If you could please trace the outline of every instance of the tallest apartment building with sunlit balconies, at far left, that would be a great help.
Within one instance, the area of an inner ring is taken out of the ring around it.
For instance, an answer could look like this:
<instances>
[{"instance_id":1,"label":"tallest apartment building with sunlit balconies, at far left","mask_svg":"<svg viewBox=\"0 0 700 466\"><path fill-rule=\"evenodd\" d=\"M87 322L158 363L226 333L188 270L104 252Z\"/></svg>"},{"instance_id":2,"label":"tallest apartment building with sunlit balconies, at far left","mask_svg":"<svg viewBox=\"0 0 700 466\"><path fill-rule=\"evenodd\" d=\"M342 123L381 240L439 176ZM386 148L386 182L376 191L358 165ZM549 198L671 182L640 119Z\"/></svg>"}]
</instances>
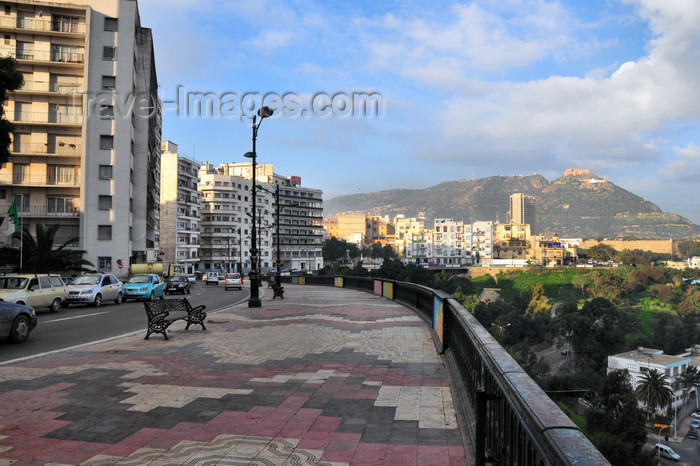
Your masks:
<instances>
[{"instance_id":1,"label":"tallest apartment building with sunlit balconies, at far left","mask_svg":"<svg viewBox=\"0 0 700 466\"><path fill-rule=\"evenodd\" d=\"M56 241L78 238L101 271L155 259L162 107L137 2L2 1L0 32L25 81L5 107L0 210L16 202L32 232L59 225Z\"/></svg>"}]
</instances>

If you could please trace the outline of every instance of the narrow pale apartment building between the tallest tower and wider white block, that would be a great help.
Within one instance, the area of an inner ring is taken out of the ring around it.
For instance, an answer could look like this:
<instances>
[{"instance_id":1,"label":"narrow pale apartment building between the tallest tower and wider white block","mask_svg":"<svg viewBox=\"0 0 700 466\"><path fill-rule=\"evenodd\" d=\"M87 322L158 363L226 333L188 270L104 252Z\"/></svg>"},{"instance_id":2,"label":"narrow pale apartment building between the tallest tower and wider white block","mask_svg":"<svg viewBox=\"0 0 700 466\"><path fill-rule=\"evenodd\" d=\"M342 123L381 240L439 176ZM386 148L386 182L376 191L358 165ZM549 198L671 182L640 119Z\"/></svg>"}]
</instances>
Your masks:
<instances>
[{"instance_id":1,"label":"narrow pale apartment building between the tallest tower and wider white block","mask_svg":"<svg viewBox=\"0 0 700 466\"><path fill-rule=\"evenodd\" d=\"M160 259L199 270L199 163L161 145Z\"/></svg>"}]
</instances>

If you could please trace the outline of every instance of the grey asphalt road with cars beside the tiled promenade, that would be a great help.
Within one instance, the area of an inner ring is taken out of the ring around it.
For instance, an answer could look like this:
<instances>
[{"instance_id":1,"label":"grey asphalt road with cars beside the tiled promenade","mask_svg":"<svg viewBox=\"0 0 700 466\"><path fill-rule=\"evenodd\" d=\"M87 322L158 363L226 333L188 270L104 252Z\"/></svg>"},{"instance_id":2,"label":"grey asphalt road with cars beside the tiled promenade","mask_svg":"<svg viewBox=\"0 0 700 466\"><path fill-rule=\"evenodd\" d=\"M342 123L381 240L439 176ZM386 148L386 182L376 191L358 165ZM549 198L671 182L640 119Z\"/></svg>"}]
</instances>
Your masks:
<instances>
[{"instance_id":1,"label":"grey asphalt road with cars beside the tiled promenade","mask_svg":"<svg viewBox=\"0 0 700 466\"><path fill-rule=\"evenodd\" d=\"M206 286L198 281L189 295L190 302L207 306L207 314L246 299L248 284L241 291L226 291L222 284ZM180 298L166 295L166 299ZM100 307L71 306L52 313L37 309L38 324L24 343L0 339L0 364L69 347L89 344L132 332L146 335L147 319L142 302L106 302Z\"/></svg>"}]
</instances>

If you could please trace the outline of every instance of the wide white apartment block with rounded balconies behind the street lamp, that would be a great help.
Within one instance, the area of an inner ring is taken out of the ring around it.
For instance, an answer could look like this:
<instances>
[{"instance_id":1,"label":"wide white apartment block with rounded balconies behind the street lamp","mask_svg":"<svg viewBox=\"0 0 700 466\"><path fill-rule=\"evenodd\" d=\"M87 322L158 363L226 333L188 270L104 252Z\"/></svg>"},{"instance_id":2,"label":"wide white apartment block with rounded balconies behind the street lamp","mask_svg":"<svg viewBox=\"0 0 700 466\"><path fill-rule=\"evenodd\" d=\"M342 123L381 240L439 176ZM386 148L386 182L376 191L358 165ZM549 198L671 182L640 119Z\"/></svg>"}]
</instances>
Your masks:
<instances>
[{"instance_id":1,"label":"wide white apartment block with rounded balconies behind the street lamp","mask_svg":"<svg viewBox=\"0 0 700 466\"><path fill-rule=\"evenodd\" d=\"M272 164L256 167L256 221L260 267L271 273L277 261L277 190L279 252L282 268L323 268L323 192L301 186L298 176L274 173ZM202 194L201 269L250 271L252 229L250 163L205 163L199 171ZM238 264L238 265L236 265Z\"/></svg>"}]
</instances>

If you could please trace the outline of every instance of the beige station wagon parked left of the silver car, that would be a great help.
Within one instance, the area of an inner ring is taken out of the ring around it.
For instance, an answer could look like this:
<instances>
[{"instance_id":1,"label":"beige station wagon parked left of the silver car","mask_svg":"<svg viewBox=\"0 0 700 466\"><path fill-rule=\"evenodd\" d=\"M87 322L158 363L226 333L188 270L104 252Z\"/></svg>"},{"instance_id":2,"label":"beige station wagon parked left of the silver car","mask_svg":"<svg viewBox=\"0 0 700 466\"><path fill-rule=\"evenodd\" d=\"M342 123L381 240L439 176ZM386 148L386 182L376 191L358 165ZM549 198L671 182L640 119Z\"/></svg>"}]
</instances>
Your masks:
<instances>
[{"instance_id":1,"label":"beige station wagon parked left of the silver car","mask_svg":"<svg viewBox=\"0 0 700 466\"><path fill-rule=\"evenodd\" d=\"M34 309L48 307L58 312L68 296L60 275L10 274L0 277L0 301L25 304Z\"/></svg>"}]
</instances>

